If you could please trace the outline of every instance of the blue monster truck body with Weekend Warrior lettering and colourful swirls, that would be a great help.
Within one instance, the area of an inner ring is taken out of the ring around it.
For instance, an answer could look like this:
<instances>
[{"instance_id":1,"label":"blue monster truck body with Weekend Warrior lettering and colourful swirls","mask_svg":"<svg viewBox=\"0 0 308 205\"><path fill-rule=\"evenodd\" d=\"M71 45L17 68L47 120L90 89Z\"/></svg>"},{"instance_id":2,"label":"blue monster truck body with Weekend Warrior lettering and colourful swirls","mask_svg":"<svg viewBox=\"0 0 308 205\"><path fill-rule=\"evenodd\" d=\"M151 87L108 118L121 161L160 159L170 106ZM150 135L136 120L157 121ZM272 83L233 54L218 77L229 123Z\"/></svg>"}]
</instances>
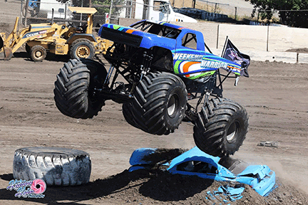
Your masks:
<instances>
[{"instance_id":1,"label":"blue monster truck body with Weekend Warrior lettering and colourful swirls","mask_svg":"<svg viewBox=\"0 0 308 205\"><path fill-rule=\"evenodd\" d=\"M176 32L171 32L170 34L163 36L159 35L159 33L150 33L134 28L140 23L152 23L154 26L160 25L164 28L174 28ZM136 43L133 46L145 49L160 47L169 50L173 56L173 73L184 78L189 78L192 80L204 78L206 76L213 75L219 68L231 71L235 75L240 75L241 65L205 51L205 41L200 31L184 28L172 23L155 23L152 21L143 20L134 23L130 27L106 23L101 26L98 32L98 35L102 38L106 38L106 30L104 30L104 28L123 32L125 33L126 38L138 36L140 43ZM185 39L185 36L188 35L192 36L193 40L195 40L193 45L194 48L183 45L183 39ZM109 38L109 40L115 42L121 41L121 39L115 38Z\"/></svg>"}]
</instances>

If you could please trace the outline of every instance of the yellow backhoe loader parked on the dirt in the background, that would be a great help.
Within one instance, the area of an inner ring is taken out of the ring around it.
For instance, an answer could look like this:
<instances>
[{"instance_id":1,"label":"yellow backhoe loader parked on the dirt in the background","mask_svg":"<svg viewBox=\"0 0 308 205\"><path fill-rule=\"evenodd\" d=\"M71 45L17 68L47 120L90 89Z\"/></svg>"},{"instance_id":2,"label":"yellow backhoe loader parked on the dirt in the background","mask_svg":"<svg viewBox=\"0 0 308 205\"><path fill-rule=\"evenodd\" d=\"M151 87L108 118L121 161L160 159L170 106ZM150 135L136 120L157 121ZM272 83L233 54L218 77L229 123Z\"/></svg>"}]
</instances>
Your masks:
<instances>
[{"instance_id":1,"label":"yellow backhoe loader parked on the dirt in the background","mask_svg":"<svg viewBox=\"0 0 308 205\"><path fill-rule=\"evenodd\" d=\"M111 41L95 37L92 33L95 8L68 7L73 14L88 14L88 20L81 26L73 23L58 25L53 23L30 24L17 31L19 17L16 17L13 31L6 38L0 33L0 59L9 60L26 43L26 51L33 61L43 61L47 52L57 55L69 54L71 58L93 58L111 46ZM72 20L73 21L73 20Z\"/></svg>"}]
</instances>

